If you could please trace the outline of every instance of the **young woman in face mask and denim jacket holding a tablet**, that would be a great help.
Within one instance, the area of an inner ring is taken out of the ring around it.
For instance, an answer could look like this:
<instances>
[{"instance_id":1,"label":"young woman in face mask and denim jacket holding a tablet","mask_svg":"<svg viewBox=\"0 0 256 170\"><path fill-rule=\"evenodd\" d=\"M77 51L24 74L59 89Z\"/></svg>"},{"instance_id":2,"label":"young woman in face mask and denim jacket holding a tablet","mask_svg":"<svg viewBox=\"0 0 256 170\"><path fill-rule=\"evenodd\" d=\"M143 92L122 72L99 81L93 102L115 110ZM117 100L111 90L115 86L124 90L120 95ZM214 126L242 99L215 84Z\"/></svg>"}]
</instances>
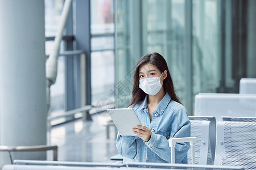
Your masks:
<instances>
[{"instance_id":1,"label":"young woman in face mask and denim jacket holding a tablet","mask_svg":"<svg viewBox=\"0 0 256 170\"><path fill-rule=\"evenodd\" d=\"M119 154L133 162L171 163L168 139L190 137L190 121L160 54L139 59L129 108L134 109L143 126L133 129L135 136L117 135ZM176 144L175 163L187 163L188 144Z\"/></svg>"}]
</instances>

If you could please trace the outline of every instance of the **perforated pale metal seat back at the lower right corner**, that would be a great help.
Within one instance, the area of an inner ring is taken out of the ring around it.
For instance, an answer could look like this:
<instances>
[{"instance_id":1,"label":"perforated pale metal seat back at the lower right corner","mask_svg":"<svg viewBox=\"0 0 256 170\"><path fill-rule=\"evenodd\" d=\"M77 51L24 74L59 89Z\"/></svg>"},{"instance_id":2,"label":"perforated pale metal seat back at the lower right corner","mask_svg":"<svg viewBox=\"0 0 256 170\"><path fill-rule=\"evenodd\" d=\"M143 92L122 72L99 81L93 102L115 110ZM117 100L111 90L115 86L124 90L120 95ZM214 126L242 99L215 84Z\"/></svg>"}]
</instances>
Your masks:
<instances>
[{"instance_id":1,"label":"perforated pale metal seat back at the lower right corner","mask_svg":"<svg viewBox=\"0 0 256 170\"><path fill-rule=\"evenodd\" d=\"M251 121L253 119L254 121ZM256 169L255 118L236 118L232 121L217 122L214 165Z\"/></svg>"}]
</instances>

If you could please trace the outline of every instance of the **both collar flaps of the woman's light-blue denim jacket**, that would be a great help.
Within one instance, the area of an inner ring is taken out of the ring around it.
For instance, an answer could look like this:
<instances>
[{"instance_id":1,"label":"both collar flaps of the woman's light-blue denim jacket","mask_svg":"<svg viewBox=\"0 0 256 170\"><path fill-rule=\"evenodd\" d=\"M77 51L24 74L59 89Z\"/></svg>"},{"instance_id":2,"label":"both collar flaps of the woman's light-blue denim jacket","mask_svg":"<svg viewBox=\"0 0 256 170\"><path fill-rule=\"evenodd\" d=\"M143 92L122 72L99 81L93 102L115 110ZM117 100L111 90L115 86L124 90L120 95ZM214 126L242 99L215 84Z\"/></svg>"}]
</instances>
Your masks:
<instances>
[{"instance_id":1,"label":"both collar flaps of the woman's light-blue denim jacket","mask_svg":"<svg viewBox=\"0 0 256 170\"><path fill-rule=\"evenodd\" d=\"M138 111L141 111L141 109L147 109L147 97L148 95L146 95ZM159 114L163 114L164 110L166 109L170 101L171 101L171 96L166 92L166 95L164 95L163 99L157 105L157 107L155 108L155 111L158 112Z\"/></svg>"}]
</instances>

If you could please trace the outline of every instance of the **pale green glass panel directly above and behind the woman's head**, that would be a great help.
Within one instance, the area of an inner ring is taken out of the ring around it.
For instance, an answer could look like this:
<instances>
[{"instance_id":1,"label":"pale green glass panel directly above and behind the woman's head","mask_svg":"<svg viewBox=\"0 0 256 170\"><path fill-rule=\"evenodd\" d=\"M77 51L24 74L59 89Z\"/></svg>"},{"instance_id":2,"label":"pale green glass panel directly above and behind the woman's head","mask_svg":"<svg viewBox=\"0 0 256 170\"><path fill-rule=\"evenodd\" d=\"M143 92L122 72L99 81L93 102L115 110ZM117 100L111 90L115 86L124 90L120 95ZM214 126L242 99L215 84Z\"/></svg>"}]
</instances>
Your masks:
<instances>
[{"instance_id":1,"label":"pale green glass panel directly above and behind the woman's head","mask_svg":"<svg viewBox=\"0 0 256 170\"><path fill-rule=\"evenodd\" d=\"M166 59L176 92L186 107L185 1L147 1L146 14L147 44L144 48Z\"/></svg>"}]
</instances>

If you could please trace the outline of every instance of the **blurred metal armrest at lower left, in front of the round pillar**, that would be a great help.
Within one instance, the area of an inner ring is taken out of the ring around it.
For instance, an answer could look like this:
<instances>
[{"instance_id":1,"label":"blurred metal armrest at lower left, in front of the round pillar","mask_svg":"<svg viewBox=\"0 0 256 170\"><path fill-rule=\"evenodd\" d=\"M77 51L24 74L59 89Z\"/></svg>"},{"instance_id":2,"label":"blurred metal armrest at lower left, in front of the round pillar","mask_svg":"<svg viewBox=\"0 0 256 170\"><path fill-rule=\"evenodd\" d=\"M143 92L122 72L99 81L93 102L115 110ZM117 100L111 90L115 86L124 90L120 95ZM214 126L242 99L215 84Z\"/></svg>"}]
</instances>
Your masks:
<instances>
[{"instance_id":1,"label":"blurred metal armrest at lower left, in front of the round pillar","mask_svg":"<svg viewBox=\"0 0 256 170\"><path fill-rule=\"evenodd\" d=\"M0 151L8 151L11 164L13 164L13 158L11 157L11 152L26 152L26 151L47 151L53 150L53 160L57 160L57 151L58 147L54 146L47 146L47 145L38 145L38 146L1 146Z\"/></svg>"}]
</instances>

